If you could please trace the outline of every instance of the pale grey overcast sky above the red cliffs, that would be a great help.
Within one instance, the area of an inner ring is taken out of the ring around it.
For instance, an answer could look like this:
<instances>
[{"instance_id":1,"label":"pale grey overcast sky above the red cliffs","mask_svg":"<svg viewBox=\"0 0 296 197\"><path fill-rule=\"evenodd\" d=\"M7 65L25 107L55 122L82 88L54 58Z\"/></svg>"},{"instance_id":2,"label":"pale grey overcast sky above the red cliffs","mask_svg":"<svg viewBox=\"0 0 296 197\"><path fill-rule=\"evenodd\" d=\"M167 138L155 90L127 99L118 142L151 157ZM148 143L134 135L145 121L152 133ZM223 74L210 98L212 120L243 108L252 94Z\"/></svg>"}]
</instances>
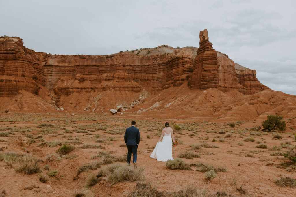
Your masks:
<instances>
[{"instance_id":1,"label":"pale grey overcast sky above the red cliffs","mask_svg":"<svg viewBox=\"0 0 296 197\"><path fill-rule=\"evenodd\" d=\"M216 51L256 69L259 81L296 95L296 1L0 0L0 35L38 52L107 55L199 47L207 29Z\"/></svg>"}]
</instances>

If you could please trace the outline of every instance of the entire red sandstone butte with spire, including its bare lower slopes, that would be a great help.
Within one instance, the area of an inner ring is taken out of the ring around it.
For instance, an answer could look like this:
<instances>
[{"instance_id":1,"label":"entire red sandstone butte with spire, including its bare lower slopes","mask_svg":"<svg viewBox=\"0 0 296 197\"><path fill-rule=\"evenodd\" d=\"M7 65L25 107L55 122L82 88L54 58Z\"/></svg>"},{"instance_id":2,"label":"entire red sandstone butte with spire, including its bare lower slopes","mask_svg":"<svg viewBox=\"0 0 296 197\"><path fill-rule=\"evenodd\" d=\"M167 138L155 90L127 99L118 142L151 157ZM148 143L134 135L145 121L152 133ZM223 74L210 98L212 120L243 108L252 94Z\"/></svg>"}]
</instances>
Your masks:
<instances>
[{"instance_id":1,"label":"entire red sandstone butte with spire, including its bare lower slopes","mask_svg":"<svg viewBox=\"0 0 296 197\"><path fill-rule=\"evenodd\" d=\"M256 71L200 47L126 51L105 56L52 55L0 37L1 109L24 112L167 113L174 117L250 120L295 117L296 97L261 84ZM155 112L158 111L158 112Z\"/></svg>"}]
</instances>

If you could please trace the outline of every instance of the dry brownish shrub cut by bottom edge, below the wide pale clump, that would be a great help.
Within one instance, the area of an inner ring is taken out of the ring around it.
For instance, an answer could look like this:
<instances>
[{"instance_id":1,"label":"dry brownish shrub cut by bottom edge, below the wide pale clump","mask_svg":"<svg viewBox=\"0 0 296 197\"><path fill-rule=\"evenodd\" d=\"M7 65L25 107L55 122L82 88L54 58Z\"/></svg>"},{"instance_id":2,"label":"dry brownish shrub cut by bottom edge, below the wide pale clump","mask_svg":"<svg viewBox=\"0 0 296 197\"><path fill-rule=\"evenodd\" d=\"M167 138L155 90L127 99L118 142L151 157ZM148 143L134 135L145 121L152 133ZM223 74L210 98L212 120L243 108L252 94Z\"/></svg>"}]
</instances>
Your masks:
<instances>
[{"instance_id":1,"label":"dry brownish shrub cut by bottom edge, below the wide pale clump","mask_svg":"<svg viewBox=\"0 0 296 197\"><path fill-rule=\"evenodd\" d=\"M160 196L157 195L157 188L152 185L151 182L146 180L137 181L137 185L135 186L135 191L128 194L128 197L155 197Z\"/></svg>"}]
</instances>

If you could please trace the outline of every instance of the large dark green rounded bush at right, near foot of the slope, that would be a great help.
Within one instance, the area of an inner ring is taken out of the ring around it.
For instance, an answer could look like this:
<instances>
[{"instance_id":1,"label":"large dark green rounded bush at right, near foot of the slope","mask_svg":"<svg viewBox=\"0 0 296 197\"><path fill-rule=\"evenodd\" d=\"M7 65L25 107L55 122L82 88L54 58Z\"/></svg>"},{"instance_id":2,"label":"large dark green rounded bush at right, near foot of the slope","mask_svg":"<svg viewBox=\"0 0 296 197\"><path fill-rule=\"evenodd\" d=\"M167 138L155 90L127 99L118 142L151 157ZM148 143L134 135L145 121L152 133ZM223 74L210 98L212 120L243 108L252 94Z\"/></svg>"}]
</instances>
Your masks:
<instances>
[{"instance_id":1,"label":"large dark green rounded bush at right, near foot of the slope","mask_svg":"<svg viewBox=\"0 0 296 197\"><path fill-rule=\"evenodd\" d=\"M263 121L261 124L263 126L263 131L272 131L272 130L279 130L285 131L286 130L286 122L282 121L284 117L280 115L268 115L267 120Z\"/></svg>"}]
</instances>

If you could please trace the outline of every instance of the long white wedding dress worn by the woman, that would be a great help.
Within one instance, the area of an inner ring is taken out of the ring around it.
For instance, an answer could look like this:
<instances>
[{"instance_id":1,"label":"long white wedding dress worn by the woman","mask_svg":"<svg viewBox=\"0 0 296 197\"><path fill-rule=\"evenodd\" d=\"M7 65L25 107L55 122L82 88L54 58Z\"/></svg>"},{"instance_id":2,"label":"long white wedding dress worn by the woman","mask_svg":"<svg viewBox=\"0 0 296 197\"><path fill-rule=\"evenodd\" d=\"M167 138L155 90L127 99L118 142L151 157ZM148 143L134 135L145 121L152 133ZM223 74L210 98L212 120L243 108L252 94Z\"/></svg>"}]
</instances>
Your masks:
<instances>
[{"instance_id":1,"label":"long white wedding dress worn by the woman","mask_svg":"<svg viewBox=\"0 0 296 197\"><path fill-rule=\"evenodd\" d=\"M157 161L166 162L168 159L174 159L172 156L172 137L165 133L163 135L163 141L157 142L155 149L150 155L151 158L157 159Z\"/></svg>"}]
</instances>

